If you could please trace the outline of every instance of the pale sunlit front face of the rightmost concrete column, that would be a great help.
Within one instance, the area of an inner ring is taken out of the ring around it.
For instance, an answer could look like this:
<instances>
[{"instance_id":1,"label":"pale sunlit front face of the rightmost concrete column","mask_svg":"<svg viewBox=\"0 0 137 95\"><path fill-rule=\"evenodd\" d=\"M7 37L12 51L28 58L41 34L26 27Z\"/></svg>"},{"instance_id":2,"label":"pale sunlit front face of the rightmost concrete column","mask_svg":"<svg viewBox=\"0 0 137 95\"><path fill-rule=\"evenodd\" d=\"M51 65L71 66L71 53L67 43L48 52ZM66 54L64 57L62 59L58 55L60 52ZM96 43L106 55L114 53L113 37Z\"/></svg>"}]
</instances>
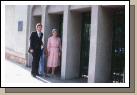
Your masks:
<instances>
[{"instance_id":1,"label":"pale sunlit front face of the rightmost concrete column","mask_svg":"<svg viewBox=\"0 0 137 95\"><path fill-rule=\"evenodd\" d=\"M95 82L95 64L96 64L97 30L98 30L97 25L98 25L98 6L92 6L88 82Z\"/></svg>"}]
</instances>

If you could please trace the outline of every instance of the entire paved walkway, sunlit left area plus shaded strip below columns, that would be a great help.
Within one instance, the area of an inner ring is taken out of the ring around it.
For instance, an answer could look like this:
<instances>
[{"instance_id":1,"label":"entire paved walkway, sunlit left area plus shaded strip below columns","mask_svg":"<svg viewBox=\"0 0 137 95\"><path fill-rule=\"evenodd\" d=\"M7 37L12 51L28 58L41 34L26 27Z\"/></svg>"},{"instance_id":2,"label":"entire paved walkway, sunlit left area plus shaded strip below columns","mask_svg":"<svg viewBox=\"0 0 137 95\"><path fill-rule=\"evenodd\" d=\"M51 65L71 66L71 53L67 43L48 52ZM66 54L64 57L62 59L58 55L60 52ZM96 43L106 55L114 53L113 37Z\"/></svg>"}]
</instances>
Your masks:
<instances>
[{"instance_id":1,"label":"entire paved walkway, sunlit left area plus shaded strip below columns","mask_svg":"<svg viewBox=\"0 0 137 95\"><path fill-rule=\"evenodd\" d=\"M23 64L6 60L6 83L86 83L85 79L62 80L59 75L56 77L31 76L30 68Z\"/></svg>"}]
</instances>

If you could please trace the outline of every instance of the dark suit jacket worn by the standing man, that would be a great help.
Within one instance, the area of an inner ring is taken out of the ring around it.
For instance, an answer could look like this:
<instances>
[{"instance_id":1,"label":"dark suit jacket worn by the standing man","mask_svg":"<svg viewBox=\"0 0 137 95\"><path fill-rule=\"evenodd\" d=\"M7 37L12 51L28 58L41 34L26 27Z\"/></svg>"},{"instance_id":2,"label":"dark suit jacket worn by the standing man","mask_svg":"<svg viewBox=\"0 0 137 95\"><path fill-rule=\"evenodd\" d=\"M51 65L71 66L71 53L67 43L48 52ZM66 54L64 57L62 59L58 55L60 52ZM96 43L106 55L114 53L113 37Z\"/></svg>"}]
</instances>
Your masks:
<instances>
[{"instance_id":1,"label":"dark suit jacket worn by the standing man","mask_svg":"<svg viewBox=\"0 0 137 95\"><path fill-rule=\"evenodd\" d=\"M41 33L41 36L38 37L37 32L32 32L30 36L30 48L35 50L40 50L42 43L42 37L43 33Z\"/></svg>"}]
</instances>

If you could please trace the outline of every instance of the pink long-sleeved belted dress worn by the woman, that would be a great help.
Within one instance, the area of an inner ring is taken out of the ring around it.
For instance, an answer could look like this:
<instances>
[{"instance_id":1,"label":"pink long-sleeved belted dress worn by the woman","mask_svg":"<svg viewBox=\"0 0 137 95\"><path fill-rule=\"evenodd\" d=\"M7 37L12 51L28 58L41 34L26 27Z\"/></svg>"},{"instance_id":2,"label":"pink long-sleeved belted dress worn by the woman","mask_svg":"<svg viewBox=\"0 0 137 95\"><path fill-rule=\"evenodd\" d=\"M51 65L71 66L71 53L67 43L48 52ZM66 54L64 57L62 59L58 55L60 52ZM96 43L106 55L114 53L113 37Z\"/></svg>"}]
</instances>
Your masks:
<instances>
[{"instance_id":1,"label":"pink long-sleeved belted dress worn by the woman","mask_svg":"<svg viewBox=\"0 0 137 95\"><path fill-rule=\"evenodd\" d=\"M47 67L57 67L59 66L60 56L59 53L61 51L61 40L59 37L50 37L48 38L47 43L48 50L48 61Z\"/></svg>"}]
</instances>

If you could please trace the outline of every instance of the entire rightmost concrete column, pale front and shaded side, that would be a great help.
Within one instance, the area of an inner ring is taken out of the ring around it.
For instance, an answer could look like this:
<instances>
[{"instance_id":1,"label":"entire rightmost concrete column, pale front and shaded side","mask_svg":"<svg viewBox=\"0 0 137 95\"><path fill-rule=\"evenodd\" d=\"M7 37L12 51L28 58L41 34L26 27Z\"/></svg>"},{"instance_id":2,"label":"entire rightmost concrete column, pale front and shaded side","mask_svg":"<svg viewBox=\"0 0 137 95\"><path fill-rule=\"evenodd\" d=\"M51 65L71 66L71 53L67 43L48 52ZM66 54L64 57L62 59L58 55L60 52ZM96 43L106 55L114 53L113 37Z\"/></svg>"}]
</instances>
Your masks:
<instances>
[{"instance_id":1,"label":"entire rightmost concrete column, pale front and shaded side","mask_svg":"<svg viewBox=\"0 0 137 95\"><path fill-rule=\"evenodd\" d=\"M109 82L111 52L111 16L104 8L92 6L88 82Z\"/></svg>"}]
</instances>

